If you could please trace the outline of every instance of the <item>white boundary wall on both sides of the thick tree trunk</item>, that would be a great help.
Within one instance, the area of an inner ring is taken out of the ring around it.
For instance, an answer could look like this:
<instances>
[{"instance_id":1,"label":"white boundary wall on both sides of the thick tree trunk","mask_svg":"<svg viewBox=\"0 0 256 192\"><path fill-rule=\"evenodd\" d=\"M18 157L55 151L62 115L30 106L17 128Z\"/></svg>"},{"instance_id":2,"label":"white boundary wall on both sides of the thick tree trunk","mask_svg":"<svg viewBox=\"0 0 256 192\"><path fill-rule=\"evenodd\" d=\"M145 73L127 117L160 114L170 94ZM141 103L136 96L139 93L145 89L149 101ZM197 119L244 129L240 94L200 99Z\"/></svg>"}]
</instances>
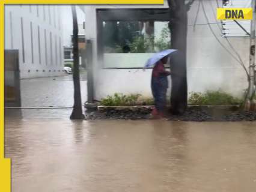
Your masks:
<instances>
[{"instance_id":1,"label":"white boundary wall on both sides of the thick tree trunk","mask_svg":"<svg viewBox=\"0 0 256 192\"><path fill-rule=\"evenodd\" d=\"M189 92L222 89L235 96L240 96L247 86L245 71L220 46L209 26L205 25L207 21L204 18L202 9L200 9L197 20L197 24L200 25L195 26L194 30L192 24L194 24L197 7L198 1L195 1L188 14L187 81ZM216 1L204 1L204 7L206 8L209 22L216 23L217 21L213 14L213 11L216 10ZM115 92L124 94L141 93L146 97L151 97L151 69L144 71L142 69L102 68L103 63L97 58L96 8L96 6L85 6L84 9L86 18L90 18L90 22L86 22L85 33L87 34L87 39L93 41L94 95L96 95L96 99L100 100L100 98L108 94L112 95ZM219 40L224 43L225 47L228 47L227 41L221 37L221 29L219 29L218 25L213 24L211 26ZM221 25L219 26L221 27ZM243 37L228 38L228 40L240 53L243 62L247 66L249 62L249 39ZM233 51L231 50L231 52Z\"/></svg>"}]
</instances>

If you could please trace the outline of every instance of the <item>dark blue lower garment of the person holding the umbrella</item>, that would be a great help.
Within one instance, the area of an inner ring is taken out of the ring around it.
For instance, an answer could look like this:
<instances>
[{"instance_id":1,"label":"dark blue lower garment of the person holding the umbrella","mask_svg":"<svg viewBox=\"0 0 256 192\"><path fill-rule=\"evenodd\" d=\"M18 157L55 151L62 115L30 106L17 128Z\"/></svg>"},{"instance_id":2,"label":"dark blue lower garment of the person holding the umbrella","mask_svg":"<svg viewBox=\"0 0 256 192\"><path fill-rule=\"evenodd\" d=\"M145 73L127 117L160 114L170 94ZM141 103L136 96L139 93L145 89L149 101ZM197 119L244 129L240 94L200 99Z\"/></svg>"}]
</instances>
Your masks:
<instances>
[{"instance_id":1,"label":"dark blue lower garment of the person holding the umbrella","mask_svg":"<svg viewBox=\"0 0 256 192\"><path fill-rule=\"evenodd\" d=\"M154 97L154 104L159 112L163 112L166 106L166 92L168 79L166 76L152 77L151 90Z\"/></svg>"}]
</instances>

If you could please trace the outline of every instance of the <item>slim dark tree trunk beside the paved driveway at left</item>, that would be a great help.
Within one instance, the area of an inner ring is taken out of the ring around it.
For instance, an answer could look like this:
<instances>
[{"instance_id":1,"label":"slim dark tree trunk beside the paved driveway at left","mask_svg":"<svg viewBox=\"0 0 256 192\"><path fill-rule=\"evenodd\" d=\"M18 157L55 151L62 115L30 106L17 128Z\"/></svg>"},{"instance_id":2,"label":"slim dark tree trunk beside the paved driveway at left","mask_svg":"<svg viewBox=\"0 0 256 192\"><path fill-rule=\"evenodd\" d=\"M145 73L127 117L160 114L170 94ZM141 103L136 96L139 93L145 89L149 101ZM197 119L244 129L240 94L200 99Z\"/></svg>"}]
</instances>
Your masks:
<instances>
[{"instance_id":1,"label":"slim dark tree trunk beside the paved driveway at left","mask_svg":"<svg viewBox=\"0 0 256 192\"><path fill-rule=\"evenodd\" d=\"M74 106L70 119L84 119L82 113L81 87L79 76L79 51L78 51L78 20L76 18L76 5L72 5L73 17L73 82Z\"/></svg>"}]
</instances>

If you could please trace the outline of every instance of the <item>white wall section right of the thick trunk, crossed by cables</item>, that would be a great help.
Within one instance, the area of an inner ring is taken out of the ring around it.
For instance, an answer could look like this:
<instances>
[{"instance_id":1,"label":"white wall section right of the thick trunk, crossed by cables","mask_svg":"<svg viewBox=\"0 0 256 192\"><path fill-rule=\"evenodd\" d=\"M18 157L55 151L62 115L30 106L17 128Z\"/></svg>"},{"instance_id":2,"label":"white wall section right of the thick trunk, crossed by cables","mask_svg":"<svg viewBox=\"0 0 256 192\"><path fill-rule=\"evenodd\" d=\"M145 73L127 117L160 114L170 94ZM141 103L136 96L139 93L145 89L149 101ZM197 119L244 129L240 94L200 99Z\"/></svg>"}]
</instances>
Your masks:
<instances>
[{"instance_id":1,"label":"white wall section right of the thick trunk, crossed by cables","mask_svg":"<svg viewBox=\"0 0 256 192\"><path fill-rule=\"evenodd\" d=\"M198 1L195 1L189 11L188 34L187 34L187 79L189 92L218 90L229 92L235 96L242 95L247 88L245 71L240 64L229 55L229 53L218 43L213 36L204 17L202 8L200 9L197 26L194 24L197 13ZM210 23L218 23L215 18L216 1L204 1L204 8ZM244 37L222 38L221 24L212 24L212 29L218 36L219 41L236 55L229 46L228 41L240 54L246 67L249 64L249 39Z\"/></svg>"}]
</instances>

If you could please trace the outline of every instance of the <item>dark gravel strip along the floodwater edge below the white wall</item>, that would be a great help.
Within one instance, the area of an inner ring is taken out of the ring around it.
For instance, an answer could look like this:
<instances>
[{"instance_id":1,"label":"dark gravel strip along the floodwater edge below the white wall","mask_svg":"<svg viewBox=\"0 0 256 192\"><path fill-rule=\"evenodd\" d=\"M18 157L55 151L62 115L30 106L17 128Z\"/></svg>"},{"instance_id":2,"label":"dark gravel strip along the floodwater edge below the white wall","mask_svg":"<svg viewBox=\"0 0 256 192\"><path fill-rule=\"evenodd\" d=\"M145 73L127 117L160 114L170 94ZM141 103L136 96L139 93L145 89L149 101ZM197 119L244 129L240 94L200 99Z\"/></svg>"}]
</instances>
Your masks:
<instances>
[{"instance_id":1,"label":"dark gravel strip along the floodwater edge below the white wall","mask_svg":"<svg viewBox=\"0 0 256 192\"><path fill-rule=\"evenodd\" d=\"M106 109L87 111L86 119L150 119L151 109ZM246 112L237 107L188 107L183 115L166 113L170 121L256 121L256 112Z\"/></svg>"}]
</instances>

